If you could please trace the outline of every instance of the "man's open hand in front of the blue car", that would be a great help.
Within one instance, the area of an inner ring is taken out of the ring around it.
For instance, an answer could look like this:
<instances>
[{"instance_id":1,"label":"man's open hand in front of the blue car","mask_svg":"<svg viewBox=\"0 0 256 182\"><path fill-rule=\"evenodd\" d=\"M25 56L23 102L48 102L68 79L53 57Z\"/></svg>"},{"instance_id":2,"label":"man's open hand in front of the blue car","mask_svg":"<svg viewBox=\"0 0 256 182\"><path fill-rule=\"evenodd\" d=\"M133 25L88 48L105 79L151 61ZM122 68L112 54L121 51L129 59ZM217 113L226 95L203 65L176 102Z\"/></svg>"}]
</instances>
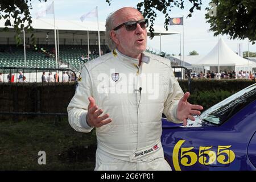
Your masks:
<instances>
[{"instance_id":1,"label":"man's open hand in front of the blue car","mask_svg":"<svg viewBox=\"0 0 256 182\"><path fill-rule=\"evenodd\" d=\"M190 96L189 92L186 92L183 98L180 99L179 104L177 105L177 118L180 121L183 121L183 125L187 125L187 119L191 119L195 121L195 118L192 114L199 115L201 112L199 110L203 110L203 106L200 105L192 105L188 102L188 97Z\"/></svg>"}]
</instances>

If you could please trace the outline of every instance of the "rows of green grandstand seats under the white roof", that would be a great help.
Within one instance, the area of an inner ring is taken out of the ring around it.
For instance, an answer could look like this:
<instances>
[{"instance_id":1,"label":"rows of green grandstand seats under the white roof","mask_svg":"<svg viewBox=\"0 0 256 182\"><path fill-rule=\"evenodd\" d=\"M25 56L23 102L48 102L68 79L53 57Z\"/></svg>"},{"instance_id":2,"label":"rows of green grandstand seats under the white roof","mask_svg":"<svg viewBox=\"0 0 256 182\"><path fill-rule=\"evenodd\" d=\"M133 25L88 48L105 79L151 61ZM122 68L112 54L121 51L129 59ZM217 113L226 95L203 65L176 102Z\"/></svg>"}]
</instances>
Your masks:
<instances>
[{"instance_id":1,"label":"rows of green grandstand seats under the white roof","mask_svg":"<svg viewBox=\"0 0 256 182\"><path fill-rule=\"evenodd\" d=\"M11 47L11 51L10 51ZM40 51L40 48L51 50L55 45L39 45L38 51L34 51L33 48L26 48L26 65L24 63L24 48L22 45L1 45L0 46L0 67L28 67L28 68L56 68L55 57L47 57L45 53ZM72 64L73 67L79 69L80 65L84 62L80 60L80 57L84 55L87 57L88 47L73 46L73 45L60 45L60 62L65 64ZM96 50L98 52L97 45L90 45L90 52ZM101 46L104 53L108 52L107 46ZM95 59L96 55L90 54L90 59Z\"/></svg>"}]
</instances>

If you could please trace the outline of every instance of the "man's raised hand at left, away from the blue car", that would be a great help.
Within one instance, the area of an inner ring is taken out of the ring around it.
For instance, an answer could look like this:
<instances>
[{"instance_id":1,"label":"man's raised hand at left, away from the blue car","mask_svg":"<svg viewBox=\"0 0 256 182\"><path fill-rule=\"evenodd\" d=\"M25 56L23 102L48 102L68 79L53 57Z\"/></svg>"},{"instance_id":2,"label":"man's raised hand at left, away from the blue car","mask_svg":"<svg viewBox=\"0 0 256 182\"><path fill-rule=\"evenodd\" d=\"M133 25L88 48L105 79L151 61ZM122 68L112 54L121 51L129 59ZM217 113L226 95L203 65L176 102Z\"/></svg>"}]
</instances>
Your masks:
<instances>
[{"instance_id":1,"label":"man's raised hand at left, away from the blue car","mask_svg":"<svg viewBox=\"0 0 256 182\"><path fill-rule=\"evenodd\" d=\"M98 109L98 106L95 104L95 100L93 97L88 97L89 105L88 105L88 113L86 115L86 120L88 124L92 127L101 127L102 125L106 125L112 122L112 119L109 118L109 114L105 114L100 117L103 113L102 109Z\"/></svg>"}]
</instances>

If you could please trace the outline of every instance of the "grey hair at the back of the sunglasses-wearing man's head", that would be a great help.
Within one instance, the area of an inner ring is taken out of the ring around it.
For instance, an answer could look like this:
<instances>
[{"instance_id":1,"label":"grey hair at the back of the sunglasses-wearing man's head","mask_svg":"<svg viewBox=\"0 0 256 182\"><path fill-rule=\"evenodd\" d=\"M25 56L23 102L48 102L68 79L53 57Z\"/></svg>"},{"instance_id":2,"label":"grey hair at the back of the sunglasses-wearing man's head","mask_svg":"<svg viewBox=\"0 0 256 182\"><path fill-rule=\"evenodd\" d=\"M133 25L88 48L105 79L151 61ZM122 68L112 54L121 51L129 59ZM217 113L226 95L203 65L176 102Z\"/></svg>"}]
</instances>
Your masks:
<instances>
[{"instance_id":1,"label":"grey hair at the back of the sunglasses-wearing man's head","mask_svg":"<svg viewBox=\"0 0 256 182\"><path fill-rule=\"evenodd\" d=\"M111 51L113 51L115 48L117 48L113 39L110 36L110 31L112 31L113 28L114 28L114 15L115 15L114 13L110 13L108 15L108 17L106 18L106 24L105 24L105 27L106 27L106 43L108 44L109 49Z\"/></svg>"}]
</instances>

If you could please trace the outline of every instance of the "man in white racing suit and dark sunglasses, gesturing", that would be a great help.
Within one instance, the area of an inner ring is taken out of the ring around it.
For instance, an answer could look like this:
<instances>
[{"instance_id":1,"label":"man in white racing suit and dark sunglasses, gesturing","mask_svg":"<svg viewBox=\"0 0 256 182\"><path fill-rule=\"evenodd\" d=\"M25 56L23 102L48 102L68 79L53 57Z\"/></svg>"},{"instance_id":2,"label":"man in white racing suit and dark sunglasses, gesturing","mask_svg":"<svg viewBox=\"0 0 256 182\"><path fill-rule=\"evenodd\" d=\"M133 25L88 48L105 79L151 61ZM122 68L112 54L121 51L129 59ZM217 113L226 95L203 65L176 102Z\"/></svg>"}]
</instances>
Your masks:
<instances>
[{"instance_id":1,"label":"man in white racing suit and dark sunglasses, gesturing","mask_svg":"<svg viewBox=\"0 0 256 182\"><path fill-rule=\"evenodd\" d=\"M84 64L68 105L73 129L88 133L96 127L96 170L171 170L160 142L162 113L187 125L203 109L187 102L170 60L144 52L146 26L131 7L108 16L112 52Z\"/></svg>"}]
</instances>

